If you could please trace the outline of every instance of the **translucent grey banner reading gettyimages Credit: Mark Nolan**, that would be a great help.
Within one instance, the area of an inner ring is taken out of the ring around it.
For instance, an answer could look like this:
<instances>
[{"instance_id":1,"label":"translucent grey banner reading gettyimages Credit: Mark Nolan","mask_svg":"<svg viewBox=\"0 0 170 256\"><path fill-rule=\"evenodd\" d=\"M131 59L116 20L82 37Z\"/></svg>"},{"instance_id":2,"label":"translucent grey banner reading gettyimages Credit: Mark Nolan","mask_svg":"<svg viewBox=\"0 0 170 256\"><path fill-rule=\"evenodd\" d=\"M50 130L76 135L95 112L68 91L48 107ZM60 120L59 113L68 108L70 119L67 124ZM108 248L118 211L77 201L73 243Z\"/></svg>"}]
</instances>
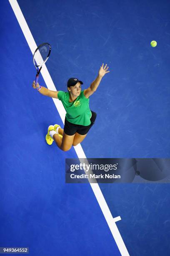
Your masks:
<instances>
[{"instance_id":1,"label":"translucent grey banner reading gettyimages Credit: Mark Nolan","mask_svg":"<svg viewBox=\"0 0 170 256\"><path fill-rule=\"evenodd\" d=\"M66 183L170 183L170 159L66 159Z\"/></svg>"}]
</instances>

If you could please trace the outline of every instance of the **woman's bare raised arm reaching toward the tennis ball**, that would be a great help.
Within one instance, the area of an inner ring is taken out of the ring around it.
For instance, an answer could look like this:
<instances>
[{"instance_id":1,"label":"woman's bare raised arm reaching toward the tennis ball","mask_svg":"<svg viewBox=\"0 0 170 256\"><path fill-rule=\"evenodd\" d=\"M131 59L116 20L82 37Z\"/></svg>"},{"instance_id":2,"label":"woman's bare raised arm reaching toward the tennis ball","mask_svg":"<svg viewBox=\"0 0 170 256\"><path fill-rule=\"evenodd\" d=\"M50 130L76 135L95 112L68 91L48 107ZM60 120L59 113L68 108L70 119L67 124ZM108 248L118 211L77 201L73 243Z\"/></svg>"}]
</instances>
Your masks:
<instances>
[{"instance_id":1,"label":"woman's bare raised arm reaching toward the tennis ball","mask_svg":"<svg viewBox=\"0 0 170 256\"><path fill-rule=\"evenodd\" d=\"M87 89L84 90L84 95L86 98L88 98L90 95L92 95L96 90L97 87L99 86L102 77L104 77L104 75L110 71L107 71L107 69L109 67L107 67L107 64L105 64L105 67L103 68L104 63L102 64L102 66L99 69L99 73L97 78L90 84L90 87L88 87Z\"/></svg>"}]
</instances>

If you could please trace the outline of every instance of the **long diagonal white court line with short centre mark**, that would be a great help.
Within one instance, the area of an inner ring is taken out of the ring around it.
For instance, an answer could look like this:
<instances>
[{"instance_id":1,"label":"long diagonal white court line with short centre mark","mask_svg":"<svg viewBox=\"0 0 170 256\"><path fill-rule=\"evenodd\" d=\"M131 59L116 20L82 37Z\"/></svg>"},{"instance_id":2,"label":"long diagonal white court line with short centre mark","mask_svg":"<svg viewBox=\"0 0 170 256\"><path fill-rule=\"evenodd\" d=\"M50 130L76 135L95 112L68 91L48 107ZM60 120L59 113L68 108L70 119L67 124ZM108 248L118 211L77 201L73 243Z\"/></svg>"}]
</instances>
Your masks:
<instances>
[{"instance_id":1,"label":"long diagonal white court line with short centre mark","mask_svg":"<svg viewBox=\"0 0 170 256\"><path fill-rule=\"evenodd\" d=\"M17 0L9 0L10 5L13 8L13 11L15 13L15 16L18 20L18 23L20 24L20 27L23 31L23 34L25 36L25 39L30 47L30 50L32 51L32 54L34 54L35 49L37 48L37 45L35 44L34 38L30 32L30 29L28 28L28 25L26 23L26 20L23 16L23 13L20 10L20 6L17 3ZM56 91L55 85L52 82L52 79L50 77L50 74L46 68L46 66L44 65L41 71L42 77L47 85L47 88L49 90L53 90ZM58 110L58 113L62 119L62 122L64 123L64 119L65 119L65 109L62 105L62 102L58 99L53 99L55 106ZM77 145L75 146L75 151L76 154L78 156L78 158L86 158L84 151L82 150L81 145ZM100 190L100 187L97 183L90 183L92 190L95 194L95 197L97 199L97 202L100 205L100 208L102 210L103 215L105 216L105 219L107 221L107 224L110 228L110 231L112 233L112 236L115 239L115 242L117 244L117 247L119 248L119 251L121 253L122 256L129 256L128 250L125 246L125 243L122 240L122 237L120 235L120 232L116 226L116 221L121 220L120 216L116 217L116 218L112 218L112 214L109 210L109 207L107 206L107 203L105 201L105 198L102 195L102 192Z\"/></svg>"}]
</instances>

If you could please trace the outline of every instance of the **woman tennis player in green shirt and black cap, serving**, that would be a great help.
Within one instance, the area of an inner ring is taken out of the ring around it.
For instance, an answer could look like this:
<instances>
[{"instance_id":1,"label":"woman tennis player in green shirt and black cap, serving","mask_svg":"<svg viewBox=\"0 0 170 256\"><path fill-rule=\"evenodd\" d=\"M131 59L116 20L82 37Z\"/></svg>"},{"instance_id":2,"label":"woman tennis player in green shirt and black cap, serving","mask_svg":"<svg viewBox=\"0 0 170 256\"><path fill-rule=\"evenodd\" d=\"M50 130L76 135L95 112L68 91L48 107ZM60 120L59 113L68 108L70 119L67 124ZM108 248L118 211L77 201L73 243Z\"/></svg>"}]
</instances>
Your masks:
<instances>
[{"instance_id":1,"label":"woman tennis player in green shirt and black cap, serving","mask_svg":"<svg viewBox=\"0 0 170 256\"><path fill-rule=\"evenodd\" d=\"M90 87L83 91L81 91L83 82L77 78L70 78L67 81L68 92L51 91L38 83L35 85L35 81L33 82L32 87L42 95L61 100L67 112L64 129L57 124L48 127L47 135L45 136L48 145L55 141L61 150L68 151L71 146L76 146L84 140L96 118L96 113L89 108L89 97L97 90L102 77L110 72L107 70L107 64L105 64L105 67L102 64L97 78Z\"/></svg>"}]
</instances>

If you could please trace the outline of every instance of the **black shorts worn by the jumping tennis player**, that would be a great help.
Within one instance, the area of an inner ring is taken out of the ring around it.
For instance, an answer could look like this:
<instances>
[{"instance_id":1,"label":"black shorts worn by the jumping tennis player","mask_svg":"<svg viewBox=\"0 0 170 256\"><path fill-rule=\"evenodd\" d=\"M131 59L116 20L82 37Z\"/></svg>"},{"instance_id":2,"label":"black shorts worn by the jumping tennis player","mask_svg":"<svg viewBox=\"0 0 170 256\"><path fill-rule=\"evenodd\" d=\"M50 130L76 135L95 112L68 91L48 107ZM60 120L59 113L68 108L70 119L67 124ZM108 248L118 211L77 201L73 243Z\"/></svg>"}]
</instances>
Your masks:
<instances>
[{"instance_id":1,"label":"black shorts worn by the jumping tennis player","mask_svg":"<svg viewBox=\"0 0 170 256\"><path fill-rule=\"evenodd\" d=\"M92 125L95 123L95 119L96 119L96 113L91 111L92 116L90 118L91 124L84 126L84 125L76 125L74 123L70 123L67 121L67 119L65 118L65 123L64 123L64 132L67 135L74 135L75 133L79 133L80 135L85 135L87 134L87 132L90 130L90 128L92 127Z\"/></svg>"}]
</instances>

